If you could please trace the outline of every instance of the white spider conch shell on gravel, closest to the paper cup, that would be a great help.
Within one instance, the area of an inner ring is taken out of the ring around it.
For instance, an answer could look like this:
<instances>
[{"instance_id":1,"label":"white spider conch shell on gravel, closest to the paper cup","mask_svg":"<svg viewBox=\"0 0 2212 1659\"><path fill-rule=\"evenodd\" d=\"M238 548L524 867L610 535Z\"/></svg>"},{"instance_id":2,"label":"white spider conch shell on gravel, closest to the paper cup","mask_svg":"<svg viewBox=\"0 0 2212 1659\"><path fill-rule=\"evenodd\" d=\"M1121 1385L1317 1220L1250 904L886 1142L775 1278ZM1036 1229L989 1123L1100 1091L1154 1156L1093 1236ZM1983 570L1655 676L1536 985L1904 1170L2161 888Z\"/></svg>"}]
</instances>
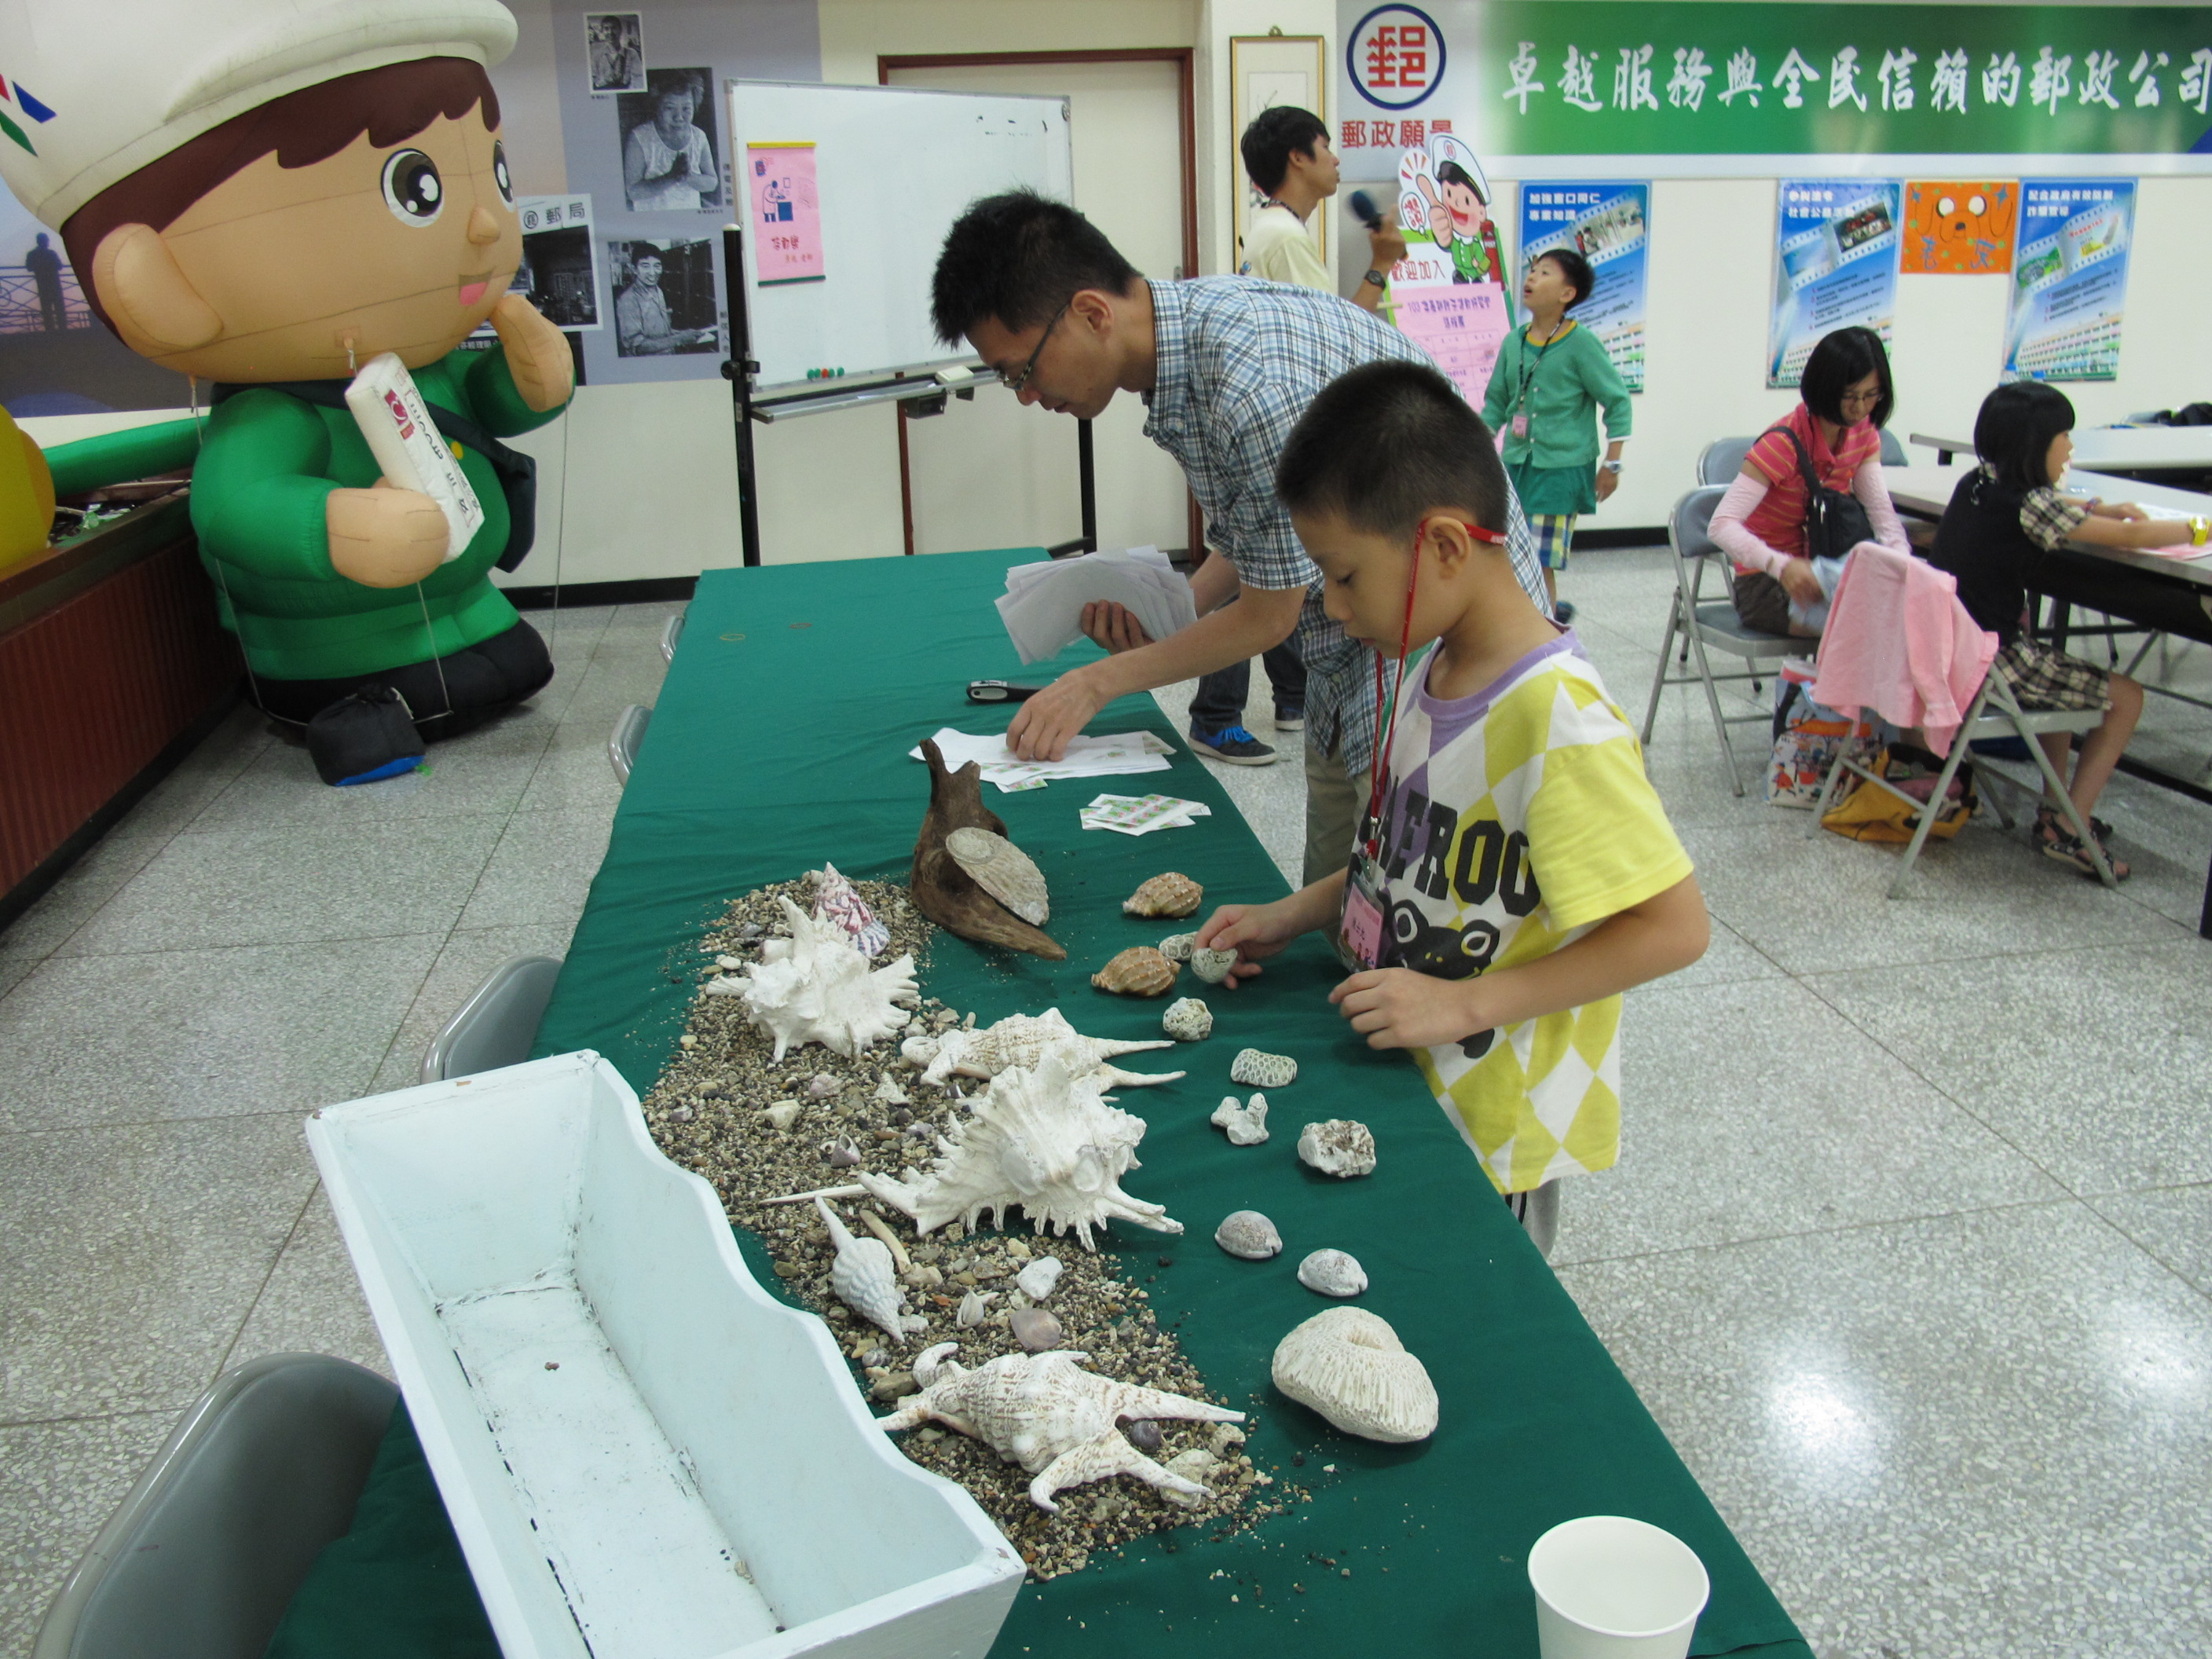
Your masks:
<instances>
[{"instance_id":1,"label":"white spider conch shell on gravel, closest to the paper cup","mask_svg":"<svg viewBox=\"0 0 2212 1659\"><path fill-rule=\"evenodd\" d=\"M891 1416L876 1418L876 1427L896 1433L936 1418L975 1436L1000 1458L1035 1475L1029 1500L1055 1515L1060 1506L1053 1493L1110 1475L1137 1475L1148 1486L1183 1498L1210 1495L1199 1482L1172 1475L1137 1451L1115 1427L1119 1418L1243 1422L1243 1411L1086 1371L1079 1360L1091 1356L1073 1349L1000 1354L967 1371L942 1358L947 1347L940 1343L922 1352L914 1363L914 1380L922 1391L902 1400Z\"/></svg>"}]
</instances>

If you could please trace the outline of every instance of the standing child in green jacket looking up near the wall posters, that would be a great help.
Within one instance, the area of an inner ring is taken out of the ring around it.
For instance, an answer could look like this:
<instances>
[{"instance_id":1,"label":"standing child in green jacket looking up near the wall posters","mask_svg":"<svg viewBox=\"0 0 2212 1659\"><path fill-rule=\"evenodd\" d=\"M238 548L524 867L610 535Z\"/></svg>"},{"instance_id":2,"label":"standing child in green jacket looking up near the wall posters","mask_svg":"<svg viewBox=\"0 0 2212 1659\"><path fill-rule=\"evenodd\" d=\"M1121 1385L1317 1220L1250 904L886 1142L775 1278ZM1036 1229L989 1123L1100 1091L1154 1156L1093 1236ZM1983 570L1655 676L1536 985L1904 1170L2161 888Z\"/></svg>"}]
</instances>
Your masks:
<instances>
[{"instance_id":1,"label":"standing child in green jacket looking up near the wall posters","mask_svg":"<svg viewBox=\"0 0 2212 1659\"><path fill-rule=\"evenodd\" d=\"M1506 476L1535 529L1544 588L1559 622L1559 571L1575 540L1575 518L1597 511L1621 482L1628 438L1628 387L1595 334L1568 321L1590 296L1590 261L1573 248L1551 248L1528 263L1522 305L1528 321L1506 334L1482 398L1482 420L1504 434ZM1597 462L1597 409L1606 409L1606 460Z\"/></svg>"}]
</instances>

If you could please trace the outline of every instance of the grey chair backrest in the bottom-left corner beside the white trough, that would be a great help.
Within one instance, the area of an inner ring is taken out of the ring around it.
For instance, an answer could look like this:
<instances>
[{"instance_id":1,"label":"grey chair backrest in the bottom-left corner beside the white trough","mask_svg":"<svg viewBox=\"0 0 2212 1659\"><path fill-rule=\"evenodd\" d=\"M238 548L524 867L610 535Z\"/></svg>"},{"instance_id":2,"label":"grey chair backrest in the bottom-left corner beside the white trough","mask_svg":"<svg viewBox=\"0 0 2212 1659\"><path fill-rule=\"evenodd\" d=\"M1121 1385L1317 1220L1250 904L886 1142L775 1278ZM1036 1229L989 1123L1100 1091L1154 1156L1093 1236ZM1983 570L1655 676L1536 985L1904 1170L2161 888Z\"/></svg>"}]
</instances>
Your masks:
<instances>
[{"instance_id":1,"label":"grey chair backrest in the bottom-left corner beside the white trough","mask_svg":"<svg viewBox=\"0 0 2212 1659\"><path fill-rule=\"evenodd\" d=\"M261 1659L354 1524L396 1400L323 1354L223 1371L100 1528L31 1659Z\"/></svg>"}]
</instances>

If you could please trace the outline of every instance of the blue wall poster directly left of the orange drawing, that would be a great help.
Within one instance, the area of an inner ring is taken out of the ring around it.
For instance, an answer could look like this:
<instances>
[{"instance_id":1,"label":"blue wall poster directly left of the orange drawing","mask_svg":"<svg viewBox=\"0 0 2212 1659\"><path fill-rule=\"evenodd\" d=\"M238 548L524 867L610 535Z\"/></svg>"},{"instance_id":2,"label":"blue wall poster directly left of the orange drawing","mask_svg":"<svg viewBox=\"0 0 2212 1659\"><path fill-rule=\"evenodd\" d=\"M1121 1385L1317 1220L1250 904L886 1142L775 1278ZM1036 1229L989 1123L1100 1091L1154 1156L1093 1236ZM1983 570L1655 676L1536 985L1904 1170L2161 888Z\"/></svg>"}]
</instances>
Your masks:
<instances>
[{"instance_id":1,"label":"blue wall poster directly left of the orange drawing","mask_svg":"<svg viewBox=\"0 0 2212 1659\"><path fill-rule=\"evenodd\" d=\"M1896 179L1781 179L1774 201L1774 316L1767 385L1794 387L1823 334L1898 314Z\"/></svg>"}]
</instances>

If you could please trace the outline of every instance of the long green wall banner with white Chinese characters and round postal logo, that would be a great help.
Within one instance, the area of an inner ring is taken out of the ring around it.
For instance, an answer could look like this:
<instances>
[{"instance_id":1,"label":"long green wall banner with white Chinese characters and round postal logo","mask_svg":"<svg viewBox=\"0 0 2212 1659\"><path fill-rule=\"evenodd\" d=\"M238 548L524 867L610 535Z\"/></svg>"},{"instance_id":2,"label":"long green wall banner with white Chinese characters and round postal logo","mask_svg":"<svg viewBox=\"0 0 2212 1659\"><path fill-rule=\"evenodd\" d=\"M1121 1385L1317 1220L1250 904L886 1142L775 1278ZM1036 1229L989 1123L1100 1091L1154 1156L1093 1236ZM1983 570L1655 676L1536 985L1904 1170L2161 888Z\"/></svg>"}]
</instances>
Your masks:
<instances>
[{"instance_id":1,"label":"long green wall banner with white Chinese characters and round postal logo","mask_svg":"<svg viewBox=\"0 0 2212 1659\"><path fill-rule=\"evenodd\" d=\"M1336 15L1352 184L1389 177L1438 119L1515 179L1615 170L1575 157L1635 177L1661 173L1637 157L1672 177L1880 177L1902 170L1891 155L2212 173L2208 7L1338 0Z\"/></svg>"}]
</instances>

